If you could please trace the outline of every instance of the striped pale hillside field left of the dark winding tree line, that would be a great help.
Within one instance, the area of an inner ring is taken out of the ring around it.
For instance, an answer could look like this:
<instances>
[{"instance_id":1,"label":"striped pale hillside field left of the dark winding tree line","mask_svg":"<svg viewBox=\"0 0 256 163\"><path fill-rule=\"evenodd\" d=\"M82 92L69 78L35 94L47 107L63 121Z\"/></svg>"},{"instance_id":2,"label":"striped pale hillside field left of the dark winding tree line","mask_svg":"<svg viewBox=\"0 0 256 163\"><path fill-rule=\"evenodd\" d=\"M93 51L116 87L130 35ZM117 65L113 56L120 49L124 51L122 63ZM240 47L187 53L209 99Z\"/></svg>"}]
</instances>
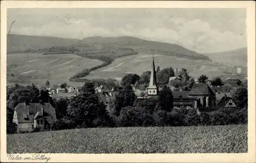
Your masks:
<instances>
[{"instance_id":1,"label":"striped pale hillside field left of the dark winding tree line","mask_svg":"<svg viewBox=\"0 0 256 163\"><path fill-rule=\"evenodd\" d=\"M7 55L7 83L35 83L44 86L46 80L52 85L68 83L69 78L84 68L92 68L103 62L82 58L73 54L41 55L19 53ZM12 76L12 74L14 76Z\"/></svg>"}]
</instances>

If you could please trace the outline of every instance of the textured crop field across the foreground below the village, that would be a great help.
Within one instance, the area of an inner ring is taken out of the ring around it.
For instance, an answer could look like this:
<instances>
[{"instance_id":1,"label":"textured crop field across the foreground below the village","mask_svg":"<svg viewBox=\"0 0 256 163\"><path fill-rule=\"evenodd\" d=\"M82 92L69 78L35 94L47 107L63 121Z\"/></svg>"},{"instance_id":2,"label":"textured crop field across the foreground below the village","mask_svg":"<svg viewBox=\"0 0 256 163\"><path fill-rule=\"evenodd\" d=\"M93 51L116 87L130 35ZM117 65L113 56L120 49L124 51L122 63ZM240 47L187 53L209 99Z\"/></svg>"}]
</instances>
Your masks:
<instances>
[{"instance_id":1,"label":"textured crop field across the foreground below the village","mask_svg":"<svg viewBox=\"0 0 256 163\"><path fill-rule=\"evenodd\" d=\"M7 153L246 153L247 125L87 128L7 135Z\"/></svg>"}]
</instances>

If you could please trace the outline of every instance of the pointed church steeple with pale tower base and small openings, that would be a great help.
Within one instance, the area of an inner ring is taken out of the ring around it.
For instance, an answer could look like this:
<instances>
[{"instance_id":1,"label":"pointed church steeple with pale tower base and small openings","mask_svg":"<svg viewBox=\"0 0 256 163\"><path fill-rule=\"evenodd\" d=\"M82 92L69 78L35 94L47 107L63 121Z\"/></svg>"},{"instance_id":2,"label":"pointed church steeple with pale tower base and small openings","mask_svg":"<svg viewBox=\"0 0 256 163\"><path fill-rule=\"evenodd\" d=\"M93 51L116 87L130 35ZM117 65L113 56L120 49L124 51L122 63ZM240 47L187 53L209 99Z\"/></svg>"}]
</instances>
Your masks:
<instances>
[{"instance_id":1,"label":"pointed church steeple with pale tower base and small openings","mask_svg":"<svg viewBox=\"0 0 256 163\"><path fill-rule=\"evenodd\" d=\"M154 57L153 57L152 71L151 71L151 77L150 77L150 85L147 88L147 94L158 95L157 75L156 75Z\"/></svg>"}]
</instances>

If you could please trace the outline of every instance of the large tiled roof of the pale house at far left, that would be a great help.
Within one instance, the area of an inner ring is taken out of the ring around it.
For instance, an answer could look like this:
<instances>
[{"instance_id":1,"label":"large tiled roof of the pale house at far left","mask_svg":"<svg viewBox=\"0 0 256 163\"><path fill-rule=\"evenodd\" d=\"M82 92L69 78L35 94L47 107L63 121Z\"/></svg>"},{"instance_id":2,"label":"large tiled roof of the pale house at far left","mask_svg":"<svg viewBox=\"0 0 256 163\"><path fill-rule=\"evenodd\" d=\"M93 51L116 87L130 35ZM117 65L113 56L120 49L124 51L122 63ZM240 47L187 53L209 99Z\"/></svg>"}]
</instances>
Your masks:
<instances>
[{"instance_id":1,"label":"large tiled roof of the pale house at far left","mask_svg":"<svg viewBox=\"0 0 256 163\"><path fill-rule=\"evenodd\" d=\"M41 107L43 108L43 115L41 115ZM31 123L38 116L44 116L50 123L57 120L55 108L50 103L26 103L26 105L25 103L19 103L14 110L17 113L18 123ZM28 110L29 115L27 114Z\"/></svg>"}]
</instances>

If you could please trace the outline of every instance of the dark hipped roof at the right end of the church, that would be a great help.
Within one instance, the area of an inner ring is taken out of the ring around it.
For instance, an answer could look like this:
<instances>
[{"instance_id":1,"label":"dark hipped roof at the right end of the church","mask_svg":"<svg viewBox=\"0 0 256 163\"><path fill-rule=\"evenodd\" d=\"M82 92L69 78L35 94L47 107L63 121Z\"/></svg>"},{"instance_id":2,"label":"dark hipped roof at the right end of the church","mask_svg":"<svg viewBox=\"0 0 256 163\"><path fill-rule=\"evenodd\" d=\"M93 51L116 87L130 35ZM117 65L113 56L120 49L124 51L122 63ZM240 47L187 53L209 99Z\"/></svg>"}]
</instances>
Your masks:
<instances>
[{"instance_id":1,"label":"dark hipped roof at the right end of the church","mask_svg":"<svg viewBox=\"0 0 256 163\"><path fill-rule=\"evenodd\" d=\"M196 83L189 92L189 95L215 95L207 84Z\"/></svg>"}]
</instances>

